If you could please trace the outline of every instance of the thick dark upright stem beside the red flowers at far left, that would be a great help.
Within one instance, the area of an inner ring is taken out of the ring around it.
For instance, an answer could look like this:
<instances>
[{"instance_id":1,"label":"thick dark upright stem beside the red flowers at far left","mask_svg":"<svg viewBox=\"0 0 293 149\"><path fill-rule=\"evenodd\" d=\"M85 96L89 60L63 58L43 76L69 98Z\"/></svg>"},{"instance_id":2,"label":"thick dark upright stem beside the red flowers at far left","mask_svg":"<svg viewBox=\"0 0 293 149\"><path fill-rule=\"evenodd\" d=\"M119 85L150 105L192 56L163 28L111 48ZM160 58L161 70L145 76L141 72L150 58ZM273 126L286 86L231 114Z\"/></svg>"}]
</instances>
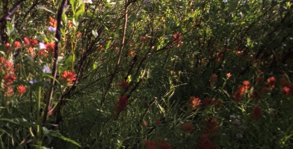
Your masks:
<instances>
[{"instance_id":1,"label":"thick dark upright stem beside the red flowers at far left","mask_svg":"<svg viewBox=\"0 0 293 149\"><path fill-rule=\"evenodd\" d=\"M60 31L61 19L62 19L63 10L64 10L66 4L67 4L67 0L62 0L62 3L61 3L61 5L58 9L58 12L57 12L57 28L56 28L56 34L55 34L57 41L55 42L54 63L53 63L53 68L52 68L52 75L54 78L56 78L57 69L58 69L58 51L59 51L59 41L61 39L61 31ZM55 84L55 79L51 79L51 84ZM49 108L51 101L52 101L53 91L54 91L54 87L51 87L50 91L48 92L49 96L48 96L48 99L46 100L46 108L44 111L44 117L43 117L43 121L42 121L43 123L46 123L46 121L47 121L48 108Z\"/></svg>"}]
</instances>

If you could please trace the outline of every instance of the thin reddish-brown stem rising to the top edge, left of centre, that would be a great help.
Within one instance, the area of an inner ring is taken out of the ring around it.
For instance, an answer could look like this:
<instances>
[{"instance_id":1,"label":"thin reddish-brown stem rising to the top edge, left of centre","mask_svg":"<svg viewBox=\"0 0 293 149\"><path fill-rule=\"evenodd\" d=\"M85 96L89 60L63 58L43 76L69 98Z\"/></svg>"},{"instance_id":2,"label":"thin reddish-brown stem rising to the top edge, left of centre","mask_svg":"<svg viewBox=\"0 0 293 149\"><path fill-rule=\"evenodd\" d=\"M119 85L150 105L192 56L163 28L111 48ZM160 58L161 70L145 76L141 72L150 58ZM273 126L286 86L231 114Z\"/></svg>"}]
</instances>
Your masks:
<instances>
[{"instance_id":1,"label":"thin reddish-brown stem rising to the top edge, left of centre","mask_svg":"<svg viewBox=\"0 0 293 149\"><path fill-rule=\"evenodd\" d=\"M115 72L117 72L118 70L118 67L120 65L120 60L121 60L121 56L122 56L122 51L124 49L124 46L125 46L125 35L126 35L126 27L127 27L127 16L128 16L128 12L127 12L127 7L128 7L128 0L125 0L125 10L124 10L124 26L123 26L123 37L122 37L122 42L121 42L121 48L119 49L119 57L118 57L118 61L117 61L117 64L115 66L115 69L114 69L114 74ZM107 88L106 88L106 91L102 97L102 101L101 101L101 106L103 106L105 100L106 100L106 96L109 92L109 89L111 87L111 83L114 79L114 74L111 75L110 77L110 80L109 80L109 83L107 85Z\"/></svg>"}]
</instances>

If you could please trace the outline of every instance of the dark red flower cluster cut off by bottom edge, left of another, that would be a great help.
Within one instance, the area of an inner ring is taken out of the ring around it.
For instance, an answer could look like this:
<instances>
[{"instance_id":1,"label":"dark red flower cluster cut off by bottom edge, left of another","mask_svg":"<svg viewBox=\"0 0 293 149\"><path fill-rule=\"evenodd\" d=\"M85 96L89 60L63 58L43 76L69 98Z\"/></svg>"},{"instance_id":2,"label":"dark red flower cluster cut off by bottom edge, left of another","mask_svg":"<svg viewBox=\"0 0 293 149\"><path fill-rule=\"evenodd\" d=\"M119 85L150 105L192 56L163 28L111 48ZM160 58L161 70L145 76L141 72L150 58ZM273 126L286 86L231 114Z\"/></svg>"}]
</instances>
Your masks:
<instances>
[{"instance_id":1,"label":"dark red flower cluster cut off by bottom edge, left of another","mask_svg":"<svg viewBox=\"0 0 293 149\"><path fill-rule=\"evenodd\" d=\"M145 149L173 149L169 144L166 144L162 139L157 139L157 141L147 140L144 143Z\"/></svg>"}]
</instances>

